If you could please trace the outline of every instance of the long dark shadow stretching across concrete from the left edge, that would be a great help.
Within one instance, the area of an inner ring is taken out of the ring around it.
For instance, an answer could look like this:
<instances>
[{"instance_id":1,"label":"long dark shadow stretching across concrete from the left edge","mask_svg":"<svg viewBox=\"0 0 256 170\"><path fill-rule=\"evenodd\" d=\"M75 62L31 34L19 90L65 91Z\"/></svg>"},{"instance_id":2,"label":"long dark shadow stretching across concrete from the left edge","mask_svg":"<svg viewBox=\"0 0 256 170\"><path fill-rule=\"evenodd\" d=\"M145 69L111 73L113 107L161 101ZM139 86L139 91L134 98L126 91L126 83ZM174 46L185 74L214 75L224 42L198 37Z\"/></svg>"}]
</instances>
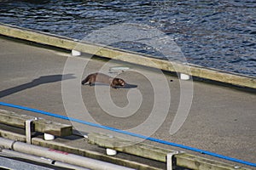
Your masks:
<instances>
[{"instance_id":1,"label":"long dark shadow stretching across concrete from the left edge","mask_svg":"<svg viewBox=\"0 0 256 170\"><path fill-rule=\"evenodd\" d=\"M34 88L41 84L51 83L51 82L60 82L67 79L73 79L75 78L73 74L67 74L67 75L49 75L44 77L39 77L37 79L34 79L32 82L27 82L25 84L21 84L20 86L16 86L14 88L8 88L6 90L3 90L0 92L0 98L3 98L5 96L18 93L20 91L26 90L27 88Z\"/></svg>"}]
</instances>

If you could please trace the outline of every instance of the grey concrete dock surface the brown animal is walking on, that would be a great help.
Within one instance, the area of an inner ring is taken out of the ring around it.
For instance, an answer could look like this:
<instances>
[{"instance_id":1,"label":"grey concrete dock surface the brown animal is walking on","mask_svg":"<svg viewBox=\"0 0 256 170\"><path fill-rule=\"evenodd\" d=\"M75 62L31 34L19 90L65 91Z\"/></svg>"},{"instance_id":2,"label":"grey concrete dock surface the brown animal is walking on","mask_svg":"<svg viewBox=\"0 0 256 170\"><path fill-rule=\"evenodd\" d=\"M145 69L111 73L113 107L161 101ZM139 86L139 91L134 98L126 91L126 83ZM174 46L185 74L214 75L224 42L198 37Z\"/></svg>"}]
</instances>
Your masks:
<instances>
[{"instance_id":1,"label":"grey concrete dock surface the brown animal is walking on","mask_svg":"<svg viewBox=\"0 0 256 170\"><path fill-rule=\"evenodd\" d=\"M1 102L71 116L244 161L256 160L253 92L182 81L155 69L90 59L86 54L74 57L65 51L3 37L0 49ZM129 70L120 71L119 67ZM120 77L128 85L118 89L98 83L92 87L81 85L84 77L97 71ZM73 124L81 133L111 133L55 117L1 108ZM178 118L177 114L180 114Z\"/></svg>"}]
</instances>

